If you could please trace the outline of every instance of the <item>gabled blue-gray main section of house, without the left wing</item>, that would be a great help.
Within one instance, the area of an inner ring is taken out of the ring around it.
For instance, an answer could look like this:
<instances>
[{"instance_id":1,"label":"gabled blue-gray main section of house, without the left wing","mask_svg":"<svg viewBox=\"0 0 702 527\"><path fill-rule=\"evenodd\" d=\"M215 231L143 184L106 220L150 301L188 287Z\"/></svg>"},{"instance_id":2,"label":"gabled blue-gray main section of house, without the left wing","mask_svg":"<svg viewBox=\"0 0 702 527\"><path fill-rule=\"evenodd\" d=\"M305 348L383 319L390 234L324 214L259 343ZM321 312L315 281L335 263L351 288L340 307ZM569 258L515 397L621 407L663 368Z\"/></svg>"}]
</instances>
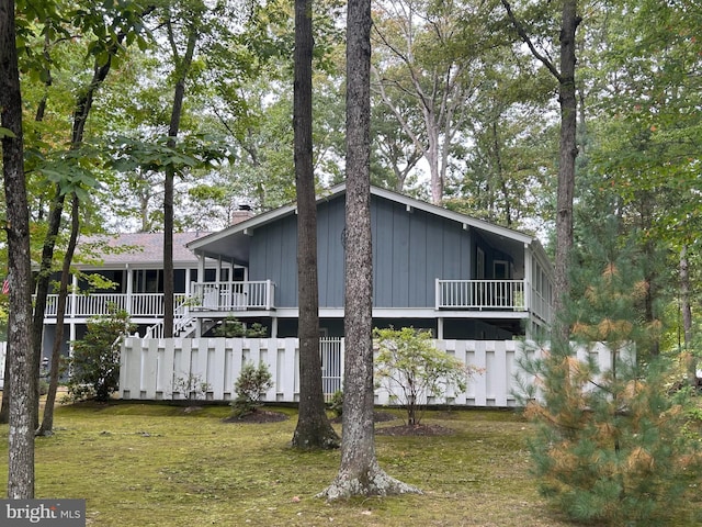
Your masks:
<instances>
[{"instance_id":1,"label":"gabled blue-gray main section of house, without the left wing","mask_svg":"<svg viewBox=\"0 0 702 527\"><path fill-rule=\"evenodd\" d=\"M319 323L343 335L346 184L318 197ZM551 264L533 236L406 195L371 189L373 324L431 329L444 339L512 339L551 322ZM272 337L297 335L295 204L188 244L214 281L192 283L184 318L206 335L235 316ZM239 272L233 272L239 270ZM181 324L185 325L185 324Z\"/></svg>"}]
</instances>

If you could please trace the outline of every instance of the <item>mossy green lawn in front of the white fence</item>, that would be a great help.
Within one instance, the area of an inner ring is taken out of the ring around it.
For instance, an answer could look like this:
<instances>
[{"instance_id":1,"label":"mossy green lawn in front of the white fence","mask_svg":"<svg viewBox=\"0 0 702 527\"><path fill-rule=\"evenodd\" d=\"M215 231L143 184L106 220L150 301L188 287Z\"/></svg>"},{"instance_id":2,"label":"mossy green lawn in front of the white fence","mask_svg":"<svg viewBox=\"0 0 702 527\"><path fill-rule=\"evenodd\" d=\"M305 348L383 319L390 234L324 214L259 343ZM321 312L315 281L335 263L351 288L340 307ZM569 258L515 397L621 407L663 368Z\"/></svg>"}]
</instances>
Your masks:
<instances>
[{"instance_id":1,"label":"mossy green lawn in front of the white fence","mask_svg":"<svg viewBox=\"0 0 702 527\"><path fill-rule=\"evenodd\" d=\"M291 418L230 424L227 406L60 406L56 435L36 442L36 497L87 498L88 525L113 527L571 525L537 495L531 426L511 412L429 413L427 424L454 434L378 435L381 466L424 494L328 504L315 494L335 478L339 452L291 449L296 415L278 410ZM7 435L2 425L4 459ZM4 493L7 463L0 471ZM679 525L699 524L700 508L681 511Z\"/></svg>"}]
</instances>

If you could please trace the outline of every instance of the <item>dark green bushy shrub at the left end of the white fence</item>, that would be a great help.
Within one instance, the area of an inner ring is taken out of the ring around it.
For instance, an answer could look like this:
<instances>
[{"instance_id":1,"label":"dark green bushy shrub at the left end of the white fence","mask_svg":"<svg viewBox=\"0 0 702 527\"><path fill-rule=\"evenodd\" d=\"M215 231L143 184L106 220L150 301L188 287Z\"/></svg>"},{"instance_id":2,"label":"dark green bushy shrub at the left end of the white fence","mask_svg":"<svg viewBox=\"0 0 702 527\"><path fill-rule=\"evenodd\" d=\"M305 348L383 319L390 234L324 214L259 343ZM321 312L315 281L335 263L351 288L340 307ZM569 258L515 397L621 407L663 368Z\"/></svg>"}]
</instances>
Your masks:
<instances>
[{"instance_id":1,"label":"dark green bushy shrub at the left end of the white fence","mask_svg":"<svg viewBox=\"0 0 702 527\"><path fill-rule=\"evenodd\" d=\"M72 401L107 401L120 383L120 339L134 332L129 314L114 305L109 314L88 321L82 340L72 343L68 397Z\"/></svg>"}]
</instances>

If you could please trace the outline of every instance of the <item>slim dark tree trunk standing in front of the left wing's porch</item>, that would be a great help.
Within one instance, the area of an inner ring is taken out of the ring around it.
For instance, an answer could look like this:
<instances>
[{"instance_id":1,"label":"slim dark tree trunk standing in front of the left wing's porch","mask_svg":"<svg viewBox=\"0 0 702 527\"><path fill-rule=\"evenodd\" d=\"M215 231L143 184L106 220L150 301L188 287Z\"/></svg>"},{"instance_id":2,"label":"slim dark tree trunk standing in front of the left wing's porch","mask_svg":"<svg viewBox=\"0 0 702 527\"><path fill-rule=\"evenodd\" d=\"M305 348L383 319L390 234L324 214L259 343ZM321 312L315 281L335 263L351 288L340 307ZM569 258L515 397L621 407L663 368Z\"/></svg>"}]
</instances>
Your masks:
<instances>
[{"instance_id":1,"label":"slim dark tree trunk standing in front of the left wing's porch","mask_svg":"<svg viewBox=\"0 0 702 527\"><path fill-rule=\"evenodd\" d=\"M169 25L169 31L172 29ZM185 80L193 63L195 45L199 38L196 22L189 25L188 45L182 60L176 53L174 35L169 34L176 61L176 90L173 92L173 108L171 109L171 122L168 127L168 146L176 146L176 138L180 132L180 120L183 115L183 99L185 98ZM163 183L163 337L173 336L173 184L176 180L176 167L172 164L166 167L166 180Z\"/></svg>"}]
</instances>

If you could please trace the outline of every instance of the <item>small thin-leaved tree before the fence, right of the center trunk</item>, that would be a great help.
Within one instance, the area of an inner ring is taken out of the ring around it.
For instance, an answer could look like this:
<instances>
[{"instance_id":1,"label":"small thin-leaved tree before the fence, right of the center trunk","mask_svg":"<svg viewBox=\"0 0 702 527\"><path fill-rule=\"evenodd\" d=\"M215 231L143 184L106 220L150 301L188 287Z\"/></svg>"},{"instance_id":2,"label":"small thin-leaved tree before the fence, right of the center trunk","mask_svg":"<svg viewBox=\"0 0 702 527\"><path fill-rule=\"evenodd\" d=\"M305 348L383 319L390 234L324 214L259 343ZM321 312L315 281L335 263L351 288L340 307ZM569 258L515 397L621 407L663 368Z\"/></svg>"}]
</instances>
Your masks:
<instances>
[{"instance_id":1,"label":"small thin-leaved tree before the fence, right of the center trunk","mask_svg":"<svg viewBox=\"0 0 702 527\"><path fill-rule=\"evenodd\" d=\"M418 425L424 397L443 397L450 390L464 392L478 369L437 349L431 332L403 327L374 329L380 352L376 384L407 411L407 424Z\"/></svg>"}]
</instances>

